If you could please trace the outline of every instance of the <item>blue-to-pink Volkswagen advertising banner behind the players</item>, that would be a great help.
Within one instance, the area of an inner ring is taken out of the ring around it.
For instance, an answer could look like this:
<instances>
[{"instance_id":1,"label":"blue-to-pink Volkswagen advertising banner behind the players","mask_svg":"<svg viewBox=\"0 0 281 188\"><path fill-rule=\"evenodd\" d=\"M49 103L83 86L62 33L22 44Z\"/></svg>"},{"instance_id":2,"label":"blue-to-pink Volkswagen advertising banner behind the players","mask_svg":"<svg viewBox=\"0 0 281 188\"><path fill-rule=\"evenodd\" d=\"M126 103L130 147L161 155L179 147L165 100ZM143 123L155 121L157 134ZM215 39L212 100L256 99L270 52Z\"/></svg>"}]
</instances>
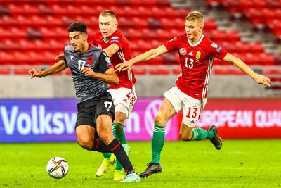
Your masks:
<instances>
[{"instance_id":1,"label":"blue-to-pink Volkswagen advertising banner behind the players","mask_svg":"<svg viewBox=\"0 0 281 188\"><path fill-rule=\"evenodd\" d=\"M127 140L151 140L162 99L138 99L124 132ZM0 142L74 142L76 99L0 99ZM178 139L178 118L166 124L166 140Z\"/></svg>"}]
</instances>

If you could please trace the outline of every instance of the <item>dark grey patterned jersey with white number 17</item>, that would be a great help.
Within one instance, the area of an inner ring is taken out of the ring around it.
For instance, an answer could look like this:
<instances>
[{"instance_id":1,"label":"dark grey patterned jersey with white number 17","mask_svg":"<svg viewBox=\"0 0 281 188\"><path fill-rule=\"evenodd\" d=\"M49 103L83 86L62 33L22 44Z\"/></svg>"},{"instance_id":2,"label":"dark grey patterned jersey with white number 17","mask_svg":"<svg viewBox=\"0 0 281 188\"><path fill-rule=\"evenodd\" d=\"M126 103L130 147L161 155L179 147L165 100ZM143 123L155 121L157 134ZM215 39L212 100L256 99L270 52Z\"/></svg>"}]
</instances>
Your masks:
<instances>
[{"instance_id":1,"label":"dark grey patterned jersey with white number 17","mask_svg":"<svg viewBox=\"0 0 281 188\"><path fill-rule=\"evenodd\" d=\"M78 54L72 49L72 45L65 46L65 58L63 59L72 73L72 81L76 90L77 103L89 99L97 99L109 89L105 82L86 77L81 70L84 67L90 67L94 72L105 73L106 70L112 68L110 58L105 52L89 44L89 50L84 54Z\"/></svg>"}]
</instances>

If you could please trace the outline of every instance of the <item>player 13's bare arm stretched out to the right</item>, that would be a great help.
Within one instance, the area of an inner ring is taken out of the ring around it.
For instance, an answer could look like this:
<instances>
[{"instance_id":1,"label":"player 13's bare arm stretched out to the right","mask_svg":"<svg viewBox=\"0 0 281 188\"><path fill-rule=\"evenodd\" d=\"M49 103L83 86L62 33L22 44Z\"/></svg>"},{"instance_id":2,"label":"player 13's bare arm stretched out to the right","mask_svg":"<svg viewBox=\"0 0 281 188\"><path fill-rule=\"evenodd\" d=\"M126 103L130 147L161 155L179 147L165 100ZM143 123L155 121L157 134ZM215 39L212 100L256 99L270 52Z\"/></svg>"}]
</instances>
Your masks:
<instances>
[{"instance_id":1,"label":"player 13's bare arm stretched out to the right","mask_svg":"<svg viewBox=\"0 0 281 188\"><path fill-rule=\"evenodd\" d=\"M264 84L266 86L270 87L270 84L272 83L270 78L259 75L255 73L251 68L249 68L248 65L246 65L240 58L236 58L232 54L226 54L226 56L223 58L223 61L226 61L228 63L232 63L237 68L240 68L244 73L249 75L253 80L255 80L258 84Z\"/></svg>"}]
</instances>

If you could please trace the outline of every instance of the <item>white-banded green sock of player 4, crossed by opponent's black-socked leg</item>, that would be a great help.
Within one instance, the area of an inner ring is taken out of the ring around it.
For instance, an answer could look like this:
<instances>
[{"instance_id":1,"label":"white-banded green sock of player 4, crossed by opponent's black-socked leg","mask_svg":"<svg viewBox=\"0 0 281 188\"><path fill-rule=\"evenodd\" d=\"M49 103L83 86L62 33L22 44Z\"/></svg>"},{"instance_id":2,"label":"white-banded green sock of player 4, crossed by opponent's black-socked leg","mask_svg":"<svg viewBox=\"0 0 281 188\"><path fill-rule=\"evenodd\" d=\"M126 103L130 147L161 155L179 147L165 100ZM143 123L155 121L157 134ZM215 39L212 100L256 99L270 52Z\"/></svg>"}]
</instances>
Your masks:
<instances>
[{"instance_id":1,"label":"white-banded green sock of player 4, crossed by opponent's black-socked leg","mask_svg":"<svg viewBox=\"0 0 281 188\"><path fill-rule=\"evenodd\" d=\"M126 144L126 137L124 134L124 125L122 123L113 123L112 132L115 138L121 143ZM115 170L123 170L122 165L116 160Z\"/></svg>"}]
</instances>

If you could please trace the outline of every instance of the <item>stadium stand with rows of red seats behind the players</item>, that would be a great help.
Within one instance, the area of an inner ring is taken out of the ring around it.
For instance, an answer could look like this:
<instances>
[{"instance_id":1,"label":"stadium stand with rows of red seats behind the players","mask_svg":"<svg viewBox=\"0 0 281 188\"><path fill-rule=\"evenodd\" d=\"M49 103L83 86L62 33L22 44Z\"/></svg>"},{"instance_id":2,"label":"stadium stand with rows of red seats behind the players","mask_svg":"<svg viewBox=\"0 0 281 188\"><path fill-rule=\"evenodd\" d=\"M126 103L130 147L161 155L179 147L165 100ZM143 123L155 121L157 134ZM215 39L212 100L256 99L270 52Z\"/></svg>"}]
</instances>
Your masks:
<instances>
[{"instance_id":1,"label":"stadium stand with rows of red seats behind the players","mask_svg":"<svg viewBox=\"0 0 281 188\"><path fill-rule=\"evenodd\" d=\"M95 7L93 9L93 7ZM201 9L200 9L201 8ZM217 8L216 11L215 9ZM267 66L272 70L280 70L281 54L270 53L266 45L255 40L245 40L243 33L236 27L221 27L221 19L211 16L214 12L220 15L225 10L230 18L247 20L256 32L272 32L276 43L281 38L281 1L254 0L1 0L0 4L0 74L25 73L30 65L51 65L55 56L63 52L69 43L66 30L74 21L83 21L89 27L89 36L98 30L98 14L104 9L112 9L117 13L119 29L129 39L131 55L147 51L164 44L169 39L185 32L184 18L192 10L204 12L207 20L204 32L216 43L224 46L230 53L242 58L248 65ZM226 16L221 14L222 16ZM232 20L228 20L231 23ZM249 24L248 24L249 25ZM276 49L278 51L278 49ZM262 61L261 61L262 60ZM143 65L178 64L178 54L165 54ZM20 68L15 68L15 66ZM216 60L214 65L228 65ZM239 70L219 66L216 74L236 74ZM168 66L169 69L169 66ZM261 70L263 68L259 68ZM266 69L267 70L267 69ZM179 70L144 70L136 69L136 73L144 74L176 74ZM70 74L70 73L65 73ZM266 74L271 74L270 71ZM276 75L276 74L274 74ZM280 82L280 80L277 82Z\"/></svg>"}]
</instances>

